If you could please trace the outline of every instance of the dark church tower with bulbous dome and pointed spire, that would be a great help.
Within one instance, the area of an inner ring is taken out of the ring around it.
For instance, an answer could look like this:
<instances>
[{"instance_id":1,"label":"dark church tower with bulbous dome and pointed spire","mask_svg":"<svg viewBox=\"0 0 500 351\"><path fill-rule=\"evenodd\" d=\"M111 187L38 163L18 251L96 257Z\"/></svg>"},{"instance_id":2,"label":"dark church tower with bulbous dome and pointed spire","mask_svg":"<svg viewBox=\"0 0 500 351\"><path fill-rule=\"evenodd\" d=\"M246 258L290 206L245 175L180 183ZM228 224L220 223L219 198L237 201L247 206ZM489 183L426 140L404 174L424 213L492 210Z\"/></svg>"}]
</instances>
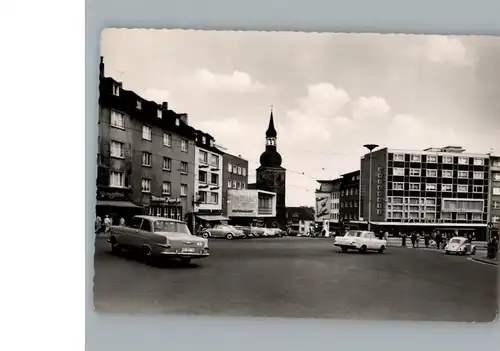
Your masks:
<instances>
[{"instance_id":1,"label":"dark church tower with bulbous dome and pointed spire","mask_svg":"<svg viewBox=\"0 0 500 351\"><path fill-rule=\"evenodd\" d=\"M276 218L266 220L266 226L286 229L286 169L281 167L281 155L277 150L276 128L274 127L273 109L266 131L266 150L260 155L260 167L257 168L257 189L276 193Z\"/></svg>"}]
</instances>

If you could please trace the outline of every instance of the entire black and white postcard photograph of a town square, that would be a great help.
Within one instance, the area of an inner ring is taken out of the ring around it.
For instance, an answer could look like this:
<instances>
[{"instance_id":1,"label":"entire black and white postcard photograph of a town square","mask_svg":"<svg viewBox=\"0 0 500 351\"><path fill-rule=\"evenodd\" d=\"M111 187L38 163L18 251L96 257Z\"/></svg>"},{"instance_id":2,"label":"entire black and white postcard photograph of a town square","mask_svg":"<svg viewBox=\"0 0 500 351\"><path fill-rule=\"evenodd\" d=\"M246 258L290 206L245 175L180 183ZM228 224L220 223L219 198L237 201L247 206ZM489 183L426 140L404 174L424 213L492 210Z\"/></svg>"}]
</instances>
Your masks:
<instances>
[{"instance_id":1,"label":"entire black and white postcard photograph of a town square","mask_svg":"<svg viewBox=\"0 0 500 351\"><path fill-rule=\"evenodd\" d=\"M98 313L492 322L500 40L119 29Z\"/></svg>"}]
</instances>

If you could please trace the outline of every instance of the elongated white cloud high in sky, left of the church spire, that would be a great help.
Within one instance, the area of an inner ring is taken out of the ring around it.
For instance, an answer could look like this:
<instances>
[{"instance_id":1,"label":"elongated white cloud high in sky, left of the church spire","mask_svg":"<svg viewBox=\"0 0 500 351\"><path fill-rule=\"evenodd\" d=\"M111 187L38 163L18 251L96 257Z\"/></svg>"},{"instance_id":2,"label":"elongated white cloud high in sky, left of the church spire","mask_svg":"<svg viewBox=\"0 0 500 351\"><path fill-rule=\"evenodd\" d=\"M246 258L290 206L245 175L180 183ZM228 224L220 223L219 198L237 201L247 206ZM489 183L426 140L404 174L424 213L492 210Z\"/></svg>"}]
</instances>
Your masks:
<instances>
[{"instance_id":1,"label":"elongated white cloud high in sky, left of the church spire","mask_svg":"<svg viewBox=\"0 0 500 351\"><path fill-rule=\"evenodd\" d=\"M194 79L201 87L220 92L255 93L265 89L262 83L241 71L226 75L200 69L194 74Z\"/></svg>"}]
</instances>

